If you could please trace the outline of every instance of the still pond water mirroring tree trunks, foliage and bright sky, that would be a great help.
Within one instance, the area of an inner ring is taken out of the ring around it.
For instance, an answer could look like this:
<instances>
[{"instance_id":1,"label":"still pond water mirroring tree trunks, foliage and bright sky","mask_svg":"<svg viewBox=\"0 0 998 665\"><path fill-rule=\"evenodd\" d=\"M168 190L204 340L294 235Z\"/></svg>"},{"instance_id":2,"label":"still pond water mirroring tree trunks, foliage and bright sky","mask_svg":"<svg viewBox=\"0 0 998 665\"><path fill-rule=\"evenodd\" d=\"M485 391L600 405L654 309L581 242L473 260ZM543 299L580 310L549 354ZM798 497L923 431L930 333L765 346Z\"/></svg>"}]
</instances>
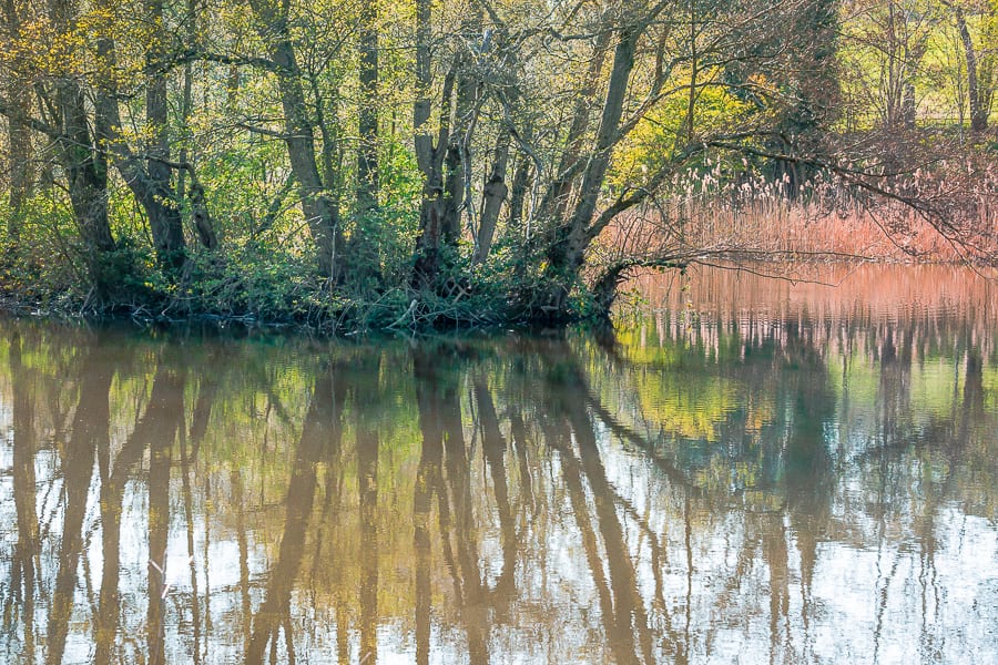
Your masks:
<instances>
[{"instance_id":1,"label":"still pond water mirroring tree trunks, foliage and bright sky","mask_svg":"<svg viewBox=\"0 0 998 665\"><path fill-rule=\"evenodd\" d=\"M998 662L998 289L812 277L615 336L0 320L0 659Z\"/></svg>"}]
</instances>

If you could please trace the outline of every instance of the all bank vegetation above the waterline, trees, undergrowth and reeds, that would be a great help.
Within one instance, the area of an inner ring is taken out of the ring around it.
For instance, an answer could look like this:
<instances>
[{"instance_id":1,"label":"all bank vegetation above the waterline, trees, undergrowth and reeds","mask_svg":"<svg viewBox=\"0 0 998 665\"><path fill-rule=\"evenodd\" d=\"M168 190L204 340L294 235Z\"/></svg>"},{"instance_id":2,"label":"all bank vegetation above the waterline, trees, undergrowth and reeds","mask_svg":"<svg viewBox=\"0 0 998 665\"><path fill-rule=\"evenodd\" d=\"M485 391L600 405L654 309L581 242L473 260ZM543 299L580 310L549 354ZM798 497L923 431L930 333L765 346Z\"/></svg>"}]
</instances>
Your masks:
<instances>
[{"instance_id":1,"label":"all bank vegetation above the waterline, trees, undergrowth and reeds","mask_svg":"<svg viewBox=\"0 0 998 665\"><path fill-rule=\"evenodd\" d=\"M9 0L0 287L370 328L717 259L996 262L998 6Z\"/></svg>"}]
</instances>

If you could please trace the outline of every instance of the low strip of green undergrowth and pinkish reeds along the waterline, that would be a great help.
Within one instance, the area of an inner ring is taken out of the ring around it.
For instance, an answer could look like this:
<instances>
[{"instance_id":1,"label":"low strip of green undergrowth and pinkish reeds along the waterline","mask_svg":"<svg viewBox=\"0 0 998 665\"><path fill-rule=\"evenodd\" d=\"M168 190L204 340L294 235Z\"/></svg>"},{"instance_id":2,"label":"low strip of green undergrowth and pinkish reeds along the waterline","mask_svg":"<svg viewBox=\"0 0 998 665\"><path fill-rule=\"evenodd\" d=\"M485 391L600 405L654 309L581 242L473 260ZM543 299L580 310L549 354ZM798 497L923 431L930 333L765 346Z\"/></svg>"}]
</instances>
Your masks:
<instances>
[{"instance_id":1,"label":"low strip of green undergrowth and pinkish reeds along the waterline","mask_svg":"<svg viewBox=\"0 0 998 665\"><path fill-rule=\"evenodd\" d=\"M907 188L897 185L892 196L870 198L839 181L815 177L792 188L786 181L740 181L719 165L676 180L674 195L653 211L618 216L594 238L574 275L552 270L547 253L528 236L478 263L469 258L473 246L465 237L452 256L441 257L440 278L419 289L413 286L415 259L403 247L394 249L393 262L373 264L378 270L334 283L316 275L307 244L223 242L211 252L191 249L175 273L149 250L122 243L99 266L106 285L100 291L88 278L81 247L10 246L0 260L0 309L58 319L356 336L605 320L614 294L631 290L649 268L681 274L723 265L790 282L809 280L815 267L828 264L986 270L998 265L998 208L989 205L998 177L990 170L975 173L974 187L958 173L913 175ZM710 178L724 184L709 187ZM553 300L546 299L552 294Z\"/></svg>"}]
</instances>

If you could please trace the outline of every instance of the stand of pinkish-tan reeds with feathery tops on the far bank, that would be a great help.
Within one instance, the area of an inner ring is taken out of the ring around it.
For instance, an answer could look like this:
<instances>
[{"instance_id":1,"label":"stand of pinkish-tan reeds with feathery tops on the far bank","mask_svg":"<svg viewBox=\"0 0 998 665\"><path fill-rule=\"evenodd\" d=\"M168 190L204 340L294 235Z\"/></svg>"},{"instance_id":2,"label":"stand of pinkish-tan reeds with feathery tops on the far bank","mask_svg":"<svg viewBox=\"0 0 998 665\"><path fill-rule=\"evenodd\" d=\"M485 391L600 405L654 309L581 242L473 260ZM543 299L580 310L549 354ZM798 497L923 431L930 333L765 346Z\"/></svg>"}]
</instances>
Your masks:
<instances>
[{"instance_id":1,"label":"stand of pinkish-tan reeds with feathery tops on the far bank","mask_svg":"<svg viewBox=\"0 0 998 665\"><path fill-rule=\"evenodd\" d=\"M998 173L938 166L904 177L736 176L714 165L678 175L672 196L624 215L603 235L610 259L726 254L992 265L998 260Z\"/></svg>"}]
</instances>

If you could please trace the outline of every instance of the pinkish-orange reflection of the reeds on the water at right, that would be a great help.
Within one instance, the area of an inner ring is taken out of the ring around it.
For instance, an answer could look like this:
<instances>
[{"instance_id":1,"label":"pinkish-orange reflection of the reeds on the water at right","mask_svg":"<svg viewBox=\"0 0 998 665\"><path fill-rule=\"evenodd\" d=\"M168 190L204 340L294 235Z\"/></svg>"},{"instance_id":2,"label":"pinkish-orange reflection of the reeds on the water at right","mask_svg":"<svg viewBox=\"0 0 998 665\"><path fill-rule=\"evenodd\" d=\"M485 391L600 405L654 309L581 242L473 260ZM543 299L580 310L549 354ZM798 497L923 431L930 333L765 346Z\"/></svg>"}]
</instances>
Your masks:
<instances>
[{"instance_id":1,"label":"pinkish-orange reflection of the reeds on the water at right","mask_svg":"<svg viewBox=\"0 0 998 665\"><path fill-rule=\"evenodd\" d=\"M851 329L867 330L867 341L876 344L904 329L936 349L968 339L985 357L996 350L994 269L813 264L796 267L792 279L773 279L780 266L764 266L767 275L737 268L697 267L684 278L640 275L638 290L653 310L658 338L699 338L715 349L723 331L739 330L742 339L783 346L791 339L787 324L807 321L811 339L833 347ZM640 325L650 323L634 314Z\"/></svg>"}]
</instances>

